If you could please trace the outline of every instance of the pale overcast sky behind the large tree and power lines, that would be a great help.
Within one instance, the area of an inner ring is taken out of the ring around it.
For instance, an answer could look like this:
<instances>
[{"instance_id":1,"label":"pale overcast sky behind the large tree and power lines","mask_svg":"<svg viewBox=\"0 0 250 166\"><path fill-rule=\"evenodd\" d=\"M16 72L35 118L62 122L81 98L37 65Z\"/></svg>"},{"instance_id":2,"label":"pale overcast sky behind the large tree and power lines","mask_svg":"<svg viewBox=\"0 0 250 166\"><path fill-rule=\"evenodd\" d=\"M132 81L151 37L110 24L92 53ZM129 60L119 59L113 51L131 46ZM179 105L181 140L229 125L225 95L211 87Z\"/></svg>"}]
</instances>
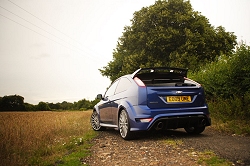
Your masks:
<instances>
[{"instance_id":1,"label":"pale overcast sky behind the large tree and power lines","mask_svg":"<svg viewBox=\"0 0 250 166\"><path fill-rule=\"evenodd\" d=\"M0 96L31 104L94 100L109 86L98 69L133 13L155 0L0 0ZM249 0L191 0L210 23L250 45Z\"/></svg>"}]
</instances>

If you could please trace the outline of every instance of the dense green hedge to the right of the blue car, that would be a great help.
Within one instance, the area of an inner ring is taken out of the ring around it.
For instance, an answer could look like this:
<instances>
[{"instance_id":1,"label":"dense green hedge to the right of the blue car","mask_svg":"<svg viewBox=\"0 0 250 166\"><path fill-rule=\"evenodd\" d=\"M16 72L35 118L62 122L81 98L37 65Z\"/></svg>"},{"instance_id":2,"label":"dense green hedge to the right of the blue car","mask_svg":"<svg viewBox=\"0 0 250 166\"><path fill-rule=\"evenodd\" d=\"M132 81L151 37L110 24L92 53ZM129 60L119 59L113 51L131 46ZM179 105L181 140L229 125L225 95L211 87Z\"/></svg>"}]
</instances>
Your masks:
<instances>
[{"instance_id":1,"label":"dense green hedge to the right of the blue car","mask_svg":"<svg viewBox=\"0 0 250 166\"><path fill-rule=\"evenodd\" d=\"M223 121L250 119L250 47L241 45L230 56L189 76L205 89L210 112Z\"/></svg>"}]
</instances>

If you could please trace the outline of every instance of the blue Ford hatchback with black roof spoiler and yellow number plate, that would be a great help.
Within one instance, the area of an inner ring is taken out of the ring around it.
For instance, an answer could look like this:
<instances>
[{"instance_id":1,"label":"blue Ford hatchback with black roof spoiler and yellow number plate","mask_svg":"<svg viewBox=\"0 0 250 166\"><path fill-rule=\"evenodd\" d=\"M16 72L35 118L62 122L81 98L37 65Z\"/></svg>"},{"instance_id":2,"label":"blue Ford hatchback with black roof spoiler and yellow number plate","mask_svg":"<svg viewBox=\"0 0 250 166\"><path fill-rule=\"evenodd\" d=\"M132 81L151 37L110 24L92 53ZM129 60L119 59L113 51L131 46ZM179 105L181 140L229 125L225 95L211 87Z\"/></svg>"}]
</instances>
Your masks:
<instances>
[{"instance_id":1,"label":"blue Ford hatchback with black roof spoiler and yellow number plate","mask_svg":"<svg viewBox=\"0 0 250 166\"><path fill-rule=\"evenodd\" d=\"M94 106L95 131L119 130L123 139L137 131L184 128L200 134L211 125L202 86L187 78L187 69L143 68L115 80Z\"/></svg>"}]
</instances>

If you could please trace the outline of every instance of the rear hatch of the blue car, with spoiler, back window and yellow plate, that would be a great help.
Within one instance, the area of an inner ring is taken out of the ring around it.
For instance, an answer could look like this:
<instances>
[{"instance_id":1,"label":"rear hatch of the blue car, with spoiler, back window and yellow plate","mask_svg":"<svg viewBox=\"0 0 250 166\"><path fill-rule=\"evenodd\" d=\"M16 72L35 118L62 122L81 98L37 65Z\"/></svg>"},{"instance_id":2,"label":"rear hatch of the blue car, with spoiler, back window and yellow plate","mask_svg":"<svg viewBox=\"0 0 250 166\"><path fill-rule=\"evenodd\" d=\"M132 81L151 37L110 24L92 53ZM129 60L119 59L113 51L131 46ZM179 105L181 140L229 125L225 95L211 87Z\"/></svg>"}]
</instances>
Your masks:
<instances>
[{"instance_id":1,"label":"rear hatch of the blue car, with spoiler, back window and yellow plate","mask_svg":"<svg viewBox=\"0 0 250 166\"><path fill-rule=\"evenodd\" d=\"M133 73L147 88L149 108L199 107L205 104L200 84L187 78L187 69L145 68Z\"/></svg>"}]
</instances>

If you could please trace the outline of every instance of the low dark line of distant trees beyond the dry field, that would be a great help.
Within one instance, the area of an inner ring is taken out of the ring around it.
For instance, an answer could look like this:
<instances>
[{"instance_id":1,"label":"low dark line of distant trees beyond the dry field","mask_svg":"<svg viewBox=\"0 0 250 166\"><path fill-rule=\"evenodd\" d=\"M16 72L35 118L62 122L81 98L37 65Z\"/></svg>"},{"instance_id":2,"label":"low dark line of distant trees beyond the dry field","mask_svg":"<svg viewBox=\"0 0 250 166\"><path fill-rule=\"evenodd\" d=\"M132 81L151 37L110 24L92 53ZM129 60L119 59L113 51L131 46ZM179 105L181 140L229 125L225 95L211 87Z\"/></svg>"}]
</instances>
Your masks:
<instances>
[{"instance_id":1,"label":"low dark line of distant trees beyond the dry field","mask_svg":"<svg viewBox=\"0 0 250 166\"><path fill-rule=\"evenodd\" d=\"M41 101L37 105L33 105L24 103L24 97L20 95L9 95L0 97L0 111L88 110L92 109L98 101L98 99L93 101L82 99L74 103L63 101L55 104Z\"/></svg>"}]
</instances>

